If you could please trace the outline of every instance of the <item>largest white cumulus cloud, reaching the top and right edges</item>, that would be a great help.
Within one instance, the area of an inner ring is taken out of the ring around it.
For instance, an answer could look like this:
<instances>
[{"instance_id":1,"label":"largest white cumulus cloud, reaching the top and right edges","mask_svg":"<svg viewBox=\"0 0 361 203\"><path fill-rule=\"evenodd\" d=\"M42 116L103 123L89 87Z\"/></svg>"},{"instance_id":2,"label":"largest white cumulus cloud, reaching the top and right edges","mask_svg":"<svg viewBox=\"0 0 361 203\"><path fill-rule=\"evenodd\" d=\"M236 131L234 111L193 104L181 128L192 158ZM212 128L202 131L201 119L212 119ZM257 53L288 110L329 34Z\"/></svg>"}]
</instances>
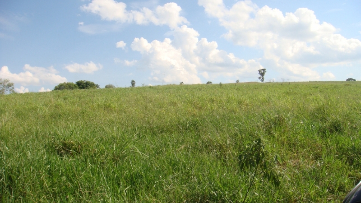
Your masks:
<instances>
[{"instance_id":1,"label":"largest white cumulus cloud, reaching the top and right edges","mask_svg":"<svg viewBox=\"0 0 361 203\"><path fill-rule=\"evenodd\" d=\"M360 40L337 34L338 29L321 23L307 8L283 14L268 6L259 8L249 0L238 1L231 8L222 0L199 0L198 4L228 30L224 38L240 46L262 49L264 59L273 60L292 74L319 78L312 68L361 60Z\"/></svg>"}]
</instances>

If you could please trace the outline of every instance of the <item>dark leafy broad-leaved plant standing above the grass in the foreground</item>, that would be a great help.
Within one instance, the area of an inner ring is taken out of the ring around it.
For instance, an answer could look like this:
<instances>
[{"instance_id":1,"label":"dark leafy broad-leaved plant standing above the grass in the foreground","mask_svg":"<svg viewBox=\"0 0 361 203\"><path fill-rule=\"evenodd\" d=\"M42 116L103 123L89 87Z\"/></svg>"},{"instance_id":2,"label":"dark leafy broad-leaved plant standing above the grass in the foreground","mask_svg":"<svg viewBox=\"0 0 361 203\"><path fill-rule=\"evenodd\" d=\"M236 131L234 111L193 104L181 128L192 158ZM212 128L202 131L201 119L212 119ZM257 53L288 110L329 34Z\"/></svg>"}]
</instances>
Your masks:
<instances>
[{"instance_id":1,"label":"dark leafy broad-leaved plant standing above the grass in the foreground","mask_svg":"<svg viewBox=\"0 0 361 203\"><path fill-rule=\"evenodd\" d=\"M247 199L248 193L255 183L255 177L261 176L262 179L273 183L274 186L280 185L279 174L274 170L275 164L280 163L279 155L275 155L273 159L269 159L268 152L261 138L256 139L248 146L244 154L239 155L239 167L241 171L252 171L249 177L249 187L244 196L243 202Z\"/></svg>"}]
</instances>

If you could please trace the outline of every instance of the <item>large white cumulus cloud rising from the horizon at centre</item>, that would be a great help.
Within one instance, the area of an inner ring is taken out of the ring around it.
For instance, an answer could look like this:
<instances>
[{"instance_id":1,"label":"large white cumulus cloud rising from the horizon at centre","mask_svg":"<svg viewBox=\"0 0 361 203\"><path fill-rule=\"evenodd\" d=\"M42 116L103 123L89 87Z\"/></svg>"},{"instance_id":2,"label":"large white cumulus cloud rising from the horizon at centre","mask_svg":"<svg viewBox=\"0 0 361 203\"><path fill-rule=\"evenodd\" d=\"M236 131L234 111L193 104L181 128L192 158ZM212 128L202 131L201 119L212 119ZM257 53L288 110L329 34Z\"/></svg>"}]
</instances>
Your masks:
<instances>
[{"instance_id":1,"label":"large white cumulus cloud rising from the horizon at centre","mask_svg":"<svg viewBox=\"0 0 361 203\"><path fill-rule=\"evenodd\" d=\"M163 42L149 43L147 39L135 38L130 46L142 54L138 63L152 70L150 79L154 82L201 83L198 75L250 77L262 68L255 60L245 61L217 49L217 42L199 39L199 33L186 25L174 29L171 34L173 40L165 38Z\"/></svg>"}]
</instances>

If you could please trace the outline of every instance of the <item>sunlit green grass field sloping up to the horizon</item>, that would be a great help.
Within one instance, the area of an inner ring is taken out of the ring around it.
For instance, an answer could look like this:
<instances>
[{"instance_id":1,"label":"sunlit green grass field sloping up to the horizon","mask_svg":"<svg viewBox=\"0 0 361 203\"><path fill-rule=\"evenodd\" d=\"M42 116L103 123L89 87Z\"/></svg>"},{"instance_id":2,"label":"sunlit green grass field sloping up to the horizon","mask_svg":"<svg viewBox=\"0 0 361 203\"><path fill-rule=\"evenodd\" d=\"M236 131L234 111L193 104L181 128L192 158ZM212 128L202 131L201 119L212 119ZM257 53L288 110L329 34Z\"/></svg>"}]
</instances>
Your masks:
<instances>
[{"instance_id":1,"label":"sunlit green grass field sloping up to the horizon","mask_svg":"<svg viewBox=\"0 0 361 203\"><path fill-rule=\"evenodd\" d=\"M360 82L10 94L0 116L0 202L242 202L257 138L280 185L256 175L245 202L341 202L361 180Z\"/></svg>"}]
</instances>

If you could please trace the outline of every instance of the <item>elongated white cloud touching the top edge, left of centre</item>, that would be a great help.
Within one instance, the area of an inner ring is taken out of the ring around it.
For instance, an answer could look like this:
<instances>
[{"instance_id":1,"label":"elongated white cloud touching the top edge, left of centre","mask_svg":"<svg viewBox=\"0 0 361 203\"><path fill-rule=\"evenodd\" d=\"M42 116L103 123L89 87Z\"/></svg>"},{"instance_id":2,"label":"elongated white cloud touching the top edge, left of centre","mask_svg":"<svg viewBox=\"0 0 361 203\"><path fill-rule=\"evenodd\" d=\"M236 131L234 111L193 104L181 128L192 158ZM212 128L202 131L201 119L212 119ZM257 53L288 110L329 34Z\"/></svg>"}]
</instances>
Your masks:
<instances>
[{"instance_id":1,"label":"elongated white cloud touching the top edge, left of centre","mask_svg":"<svg viewBox=\"0 0 361 203\"><path fill-rule=\"evenodd\" d=\"M178 25L188 23L187 19L180 16L182 10L176 3L166 3L158 6L155 10L142 8L138 10L126 10L127 5L114 0L92 0L83 5L83 11L98 14L103 20L118 21L121 23L133 23L138 25L167 25L174 29Z\"/></svg>"}]
</instances>

